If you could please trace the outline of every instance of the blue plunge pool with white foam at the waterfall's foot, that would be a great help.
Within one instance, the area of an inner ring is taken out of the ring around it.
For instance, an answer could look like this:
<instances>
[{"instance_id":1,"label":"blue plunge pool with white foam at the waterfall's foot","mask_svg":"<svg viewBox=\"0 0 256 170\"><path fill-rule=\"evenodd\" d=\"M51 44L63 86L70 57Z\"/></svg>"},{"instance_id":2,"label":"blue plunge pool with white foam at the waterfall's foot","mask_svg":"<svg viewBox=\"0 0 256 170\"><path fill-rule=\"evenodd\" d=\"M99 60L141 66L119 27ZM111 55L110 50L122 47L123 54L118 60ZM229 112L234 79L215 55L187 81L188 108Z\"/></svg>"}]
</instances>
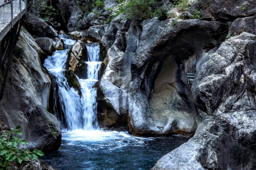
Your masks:
<instances>
[{"instance_id":1,"label":"blue plunge pool with white foam at the waterfall's foot","mask_svg":"<svg viewBox=\"0 0 256 170\"><path fill-rule=\"evenodd\" d=\"M63 131L59 150L41 158L57 170L149 170L188 139L134 137L120 130Z\"/></svg>"}]
</instances>

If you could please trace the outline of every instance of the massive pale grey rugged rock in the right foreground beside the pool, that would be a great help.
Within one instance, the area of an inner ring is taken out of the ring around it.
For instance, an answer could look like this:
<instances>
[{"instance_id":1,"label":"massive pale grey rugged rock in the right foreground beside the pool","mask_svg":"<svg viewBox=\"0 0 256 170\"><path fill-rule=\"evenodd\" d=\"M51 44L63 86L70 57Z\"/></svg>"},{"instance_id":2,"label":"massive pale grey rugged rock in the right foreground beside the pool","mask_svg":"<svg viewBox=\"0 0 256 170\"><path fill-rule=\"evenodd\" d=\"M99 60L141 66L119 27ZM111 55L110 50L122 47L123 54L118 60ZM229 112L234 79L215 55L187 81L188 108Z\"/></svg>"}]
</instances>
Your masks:
<instances>
[{"instance_id":1,"label":"massive pale grey rugged rock in the right foreground beside the pool","mask_svg":"<svg viewBox=\"0 0 256 170\"><path fill-rule=\"evenodd\" d=\"M191 89L198 110L195 135L152 170L255 169L255 44L256 35L243 32L197 68Z\"/></svg>"}]
</instances>

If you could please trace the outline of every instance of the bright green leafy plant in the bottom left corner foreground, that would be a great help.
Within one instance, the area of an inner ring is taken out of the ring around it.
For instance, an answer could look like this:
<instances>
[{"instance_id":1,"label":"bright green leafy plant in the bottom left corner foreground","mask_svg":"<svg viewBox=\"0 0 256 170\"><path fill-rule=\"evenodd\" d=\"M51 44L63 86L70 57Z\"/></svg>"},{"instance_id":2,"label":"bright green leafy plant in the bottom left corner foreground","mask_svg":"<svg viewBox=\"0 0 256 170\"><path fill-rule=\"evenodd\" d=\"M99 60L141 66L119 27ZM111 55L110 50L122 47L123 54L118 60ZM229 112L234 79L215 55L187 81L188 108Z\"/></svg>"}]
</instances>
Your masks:
<instances>
[{"instance_id":1,"label":"bright green leafy plant in the bottom left corner foreground","mask_svg":"<svg viewBox=\"0 0 256 170\"><path fill-rule=\"evenodd\" d=\"M28 144L28 142L25 140L12 136L12 133L22 135L22 133L19 131L20 128L20 126L11 128L12 131L5 132L5 135L2 135L0 138L0 170L10 169L10 163L15 164L15 160L18 160L18 162L21 163L22 161L28 161L28 159L37 160L37 155L44 155L43 152L38 149L34 149L31 152L29 149L24 151L17 147L18 144Z\"/></svg>"}]
</instances>

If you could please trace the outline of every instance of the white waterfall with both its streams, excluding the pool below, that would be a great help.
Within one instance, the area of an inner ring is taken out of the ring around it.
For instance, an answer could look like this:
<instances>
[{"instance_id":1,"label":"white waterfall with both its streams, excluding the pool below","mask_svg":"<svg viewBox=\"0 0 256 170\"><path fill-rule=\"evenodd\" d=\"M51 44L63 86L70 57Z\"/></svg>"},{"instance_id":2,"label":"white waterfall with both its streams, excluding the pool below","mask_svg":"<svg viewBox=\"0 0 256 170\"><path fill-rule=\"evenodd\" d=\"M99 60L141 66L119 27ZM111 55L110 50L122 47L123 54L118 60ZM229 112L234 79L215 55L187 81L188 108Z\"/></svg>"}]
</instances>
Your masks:
<instances>
[{"instance_id":1,"label":"white waterfall with both its streams, excluding the pool below","mask_svg":"<svg viewBox=\"0 0 256 170\"><path fill-rule=\"evenodd\" d=\"M93 130L98 128L97 122L97 103L96 89L93 85L98 80L98 71L101 65L99 62L100 48L98 44L86 44L88 51L88 79L80 79L82 96L80 98L78 91L69 87L67 79L64 76L65 62L68 52L76 41L67 39L67 36L60 36L65 50L56 50L52 56L45 59L44 66L50 72L51 77L56 84L54 93L54 102L59 103L61 114L58 113L55 105L55 116L59 119L62 128L68 130L84 129Z\"/></svg>"}]
</instances>

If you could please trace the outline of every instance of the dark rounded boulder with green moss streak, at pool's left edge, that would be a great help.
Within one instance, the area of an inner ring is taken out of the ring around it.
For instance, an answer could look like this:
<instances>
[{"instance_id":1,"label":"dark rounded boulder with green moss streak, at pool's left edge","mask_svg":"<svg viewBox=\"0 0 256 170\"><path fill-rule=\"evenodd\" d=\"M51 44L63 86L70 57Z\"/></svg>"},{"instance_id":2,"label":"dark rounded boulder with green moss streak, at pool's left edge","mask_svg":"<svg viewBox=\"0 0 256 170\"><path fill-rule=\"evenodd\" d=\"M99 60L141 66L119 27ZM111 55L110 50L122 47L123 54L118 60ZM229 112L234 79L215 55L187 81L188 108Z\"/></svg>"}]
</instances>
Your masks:
<instances>
[{"instance_id":1,"label":"dark rounded boulder with green moss streak, at pool's left edge","mask_svg":"<svg viewBox=\"0 0 256 170\"><path fill-rule=\"evenodd\" d=\"M61 129L57 118L37 105L28 118L31 140L30 149L38 148L44 153L58 150L61 144Z\"/></svg>"}]
</instances>

